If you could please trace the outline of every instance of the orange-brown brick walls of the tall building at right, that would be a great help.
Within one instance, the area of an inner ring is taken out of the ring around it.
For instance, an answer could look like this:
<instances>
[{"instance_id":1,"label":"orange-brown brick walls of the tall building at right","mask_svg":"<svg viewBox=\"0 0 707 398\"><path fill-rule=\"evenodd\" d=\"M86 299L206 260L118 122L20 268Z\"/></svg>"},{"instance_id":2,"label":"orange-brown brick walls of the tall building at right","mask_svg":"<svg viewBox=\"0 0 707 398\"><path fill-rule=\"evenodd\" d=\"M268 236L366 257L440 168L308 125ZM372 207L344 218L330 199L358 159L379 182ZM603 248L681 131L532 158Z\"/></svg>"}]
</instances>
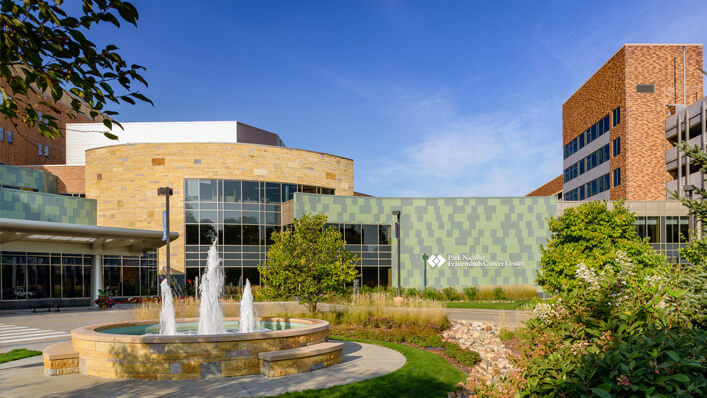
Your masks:
<instances>
[{"instance_id":1,"label":"orange-brown brick walls of the tall building at right","mask_svg":"<svg viewBox=\"0 0 707 398\"><path fill-rule=\"evenodd\" d=\"M686 50L686 93L691 103L702 97L702 45L626 44L611 57L562 107L563 145L616 107L621 123L610 129L621 140L621 153L611 156L612 200L664 200L668 105L683 102L683 47ZM654 91L638 92L637 85ZM613 171L621 169L614 186Z\"/></svg>"}]
</instances>

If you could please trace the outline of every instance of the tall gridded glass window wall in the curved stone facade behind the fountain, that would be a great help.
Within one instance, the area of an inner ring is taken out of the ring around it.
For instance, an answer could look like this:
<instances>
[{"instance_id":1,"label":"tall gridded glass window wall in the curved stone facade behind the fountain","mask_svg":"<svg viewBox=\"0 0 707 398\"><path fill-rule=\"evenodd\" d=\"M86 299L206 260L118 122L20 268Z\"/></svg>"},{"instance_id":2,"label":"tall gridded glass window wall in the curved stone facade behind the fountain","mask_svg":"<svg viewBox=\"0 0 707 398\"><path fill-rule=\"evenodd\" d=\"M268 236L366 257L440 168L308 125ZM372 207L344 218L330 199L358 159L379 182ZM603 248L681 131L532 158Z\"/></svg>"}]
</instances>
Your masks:
<instances>
[{"instance_id":1,"label":"tall gridded glass window wall in the curved stone facade behind the fountain","mask_svg":"<svg viewBox=\"0 0 707 398\"><path fill-rule=\"evenodd\" d=\"M184 191L186 278L194 280L203 272L216 241L227 291L245 283L244 278L260 283L257 267L265 261L272 234L281 228L283 202L295 192L334 194L332 188L312 185L220 179L186 179Z\"/></svg>"}]
</instances>

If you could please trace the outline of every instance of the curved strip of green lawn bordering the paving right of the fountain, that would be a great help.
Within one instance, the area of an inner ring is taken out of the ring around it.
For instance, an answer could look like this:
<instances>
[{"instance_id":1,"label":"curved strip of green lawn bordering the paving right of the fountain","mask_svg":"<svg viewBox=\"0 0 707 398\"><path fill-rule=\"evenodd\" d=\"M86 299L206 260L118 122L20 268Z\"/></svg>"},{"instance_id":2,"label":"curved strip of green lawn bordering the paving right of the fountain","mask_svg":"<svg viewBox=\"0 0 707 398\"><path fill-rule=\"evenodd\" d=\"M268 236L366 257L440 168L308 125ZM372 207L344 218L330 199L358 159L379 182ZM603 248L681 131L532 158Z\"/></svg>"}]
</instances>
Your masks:
<instances>
[{"instance_id":1,"label":"curved strip of green lawn bordering the paving right of the fountain","mask_svg":"<svg viewBox=\"0 0 707 398\"><path fill-rule=\"evenodd\" d=\"M331 336L332 339L347 340ZM454 391L466 375L444 358L418 348L381 341L351 340L378 344L396 350L407 359L405 365L393 373L375 379L359 381L322 390L305 390L279 397L446 397Z\"/></svg>"}]
</instances>

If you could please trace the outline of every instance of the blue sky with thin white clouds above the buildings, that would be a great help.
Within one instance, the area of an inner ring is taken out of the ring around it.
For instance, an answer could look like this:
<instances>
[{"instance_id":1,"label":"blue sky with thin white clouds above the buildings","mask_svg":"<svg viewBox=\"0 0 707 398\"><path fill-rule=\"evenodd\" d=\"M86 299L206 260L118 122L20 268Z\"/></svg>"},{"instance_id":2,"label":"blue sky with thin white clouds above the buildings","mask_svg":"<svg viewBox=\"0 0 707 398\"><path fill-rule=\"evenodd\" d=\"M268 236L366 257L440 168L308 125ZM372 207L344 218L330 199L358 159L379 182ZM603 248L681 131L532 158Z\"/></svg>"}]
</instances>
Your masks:
<instances>
[{"instance_id":1,"label":"blue sky with thin white clouds above the buildings","mask_svg":"<svg viewBox=\"0 0 707 398\"><path fill-rule=\"evenodd\" d=\"M134 0L120 121L238 120L354 159L375 196L520 196L562 173L562 103L624 43L704 43L696 1ZM198 134L198 132L195 132Z\"/></svg>"}]
</instances>

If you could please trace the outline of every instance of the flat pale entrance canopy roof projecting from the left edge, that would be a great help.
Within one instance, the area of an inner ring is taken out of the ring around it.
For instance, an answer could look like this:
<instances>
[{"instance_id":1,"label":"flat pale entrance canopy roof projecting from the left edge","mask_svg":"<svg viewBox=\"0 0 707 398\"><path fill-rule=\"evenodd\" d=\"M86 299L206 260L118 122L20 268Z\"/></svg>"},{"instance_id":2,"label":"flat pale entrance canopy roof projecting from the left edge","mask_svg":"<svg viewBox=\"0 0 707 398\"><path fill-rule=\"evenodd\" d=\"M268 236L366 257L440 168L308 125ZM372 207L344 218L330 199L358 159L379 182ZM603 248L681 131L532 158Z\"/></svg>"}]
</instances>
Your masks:
<instances>
[{"instance_id":1,"label":"flat pale entrance canopy roof projecting from the left edge","mask_svg":"<svg viewBox=\"0 0 707 398\"><path fill-rule=\"evenodd\" d=\"M177 232L169 234L170 241L178 237ZM141 254L164 246L162 238L162 231L0 218L0 248L6 243L13 246L48 243L81 245L103 253Z\"/></svg>"}]
</instances>

